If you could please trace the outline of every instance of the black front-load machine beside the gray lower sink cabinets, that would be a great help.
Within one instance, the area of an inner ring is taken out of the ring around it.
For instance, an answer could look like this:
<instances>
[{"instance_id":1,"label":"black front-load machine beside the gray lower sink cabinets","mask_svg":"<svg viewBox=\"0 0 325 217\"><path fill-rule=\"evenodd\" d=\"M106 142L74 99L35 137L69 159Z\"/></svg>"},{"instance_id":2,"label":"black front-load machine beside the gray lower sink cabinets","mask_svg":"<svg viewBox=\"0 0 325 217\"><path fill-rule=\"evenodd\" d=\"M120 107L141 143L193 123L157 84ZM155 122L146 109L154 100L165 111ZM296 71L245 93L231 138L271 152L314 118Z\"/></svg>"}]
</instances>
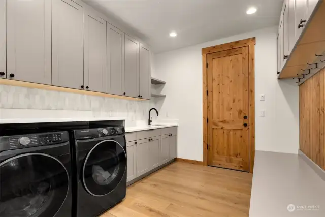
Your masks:
<instances>
[{"instance_id":1,"label":"black front-load machine beside the gray lower sink cabinets","mask_svg":"<svg viewBox=\"0 0 325 217\"><path fill-rule=\"evenodd\" d=\"M126 143L123 127L73 131L76 162L74 210L98 216L125 198Z\"/></svg>"}]
</instances>

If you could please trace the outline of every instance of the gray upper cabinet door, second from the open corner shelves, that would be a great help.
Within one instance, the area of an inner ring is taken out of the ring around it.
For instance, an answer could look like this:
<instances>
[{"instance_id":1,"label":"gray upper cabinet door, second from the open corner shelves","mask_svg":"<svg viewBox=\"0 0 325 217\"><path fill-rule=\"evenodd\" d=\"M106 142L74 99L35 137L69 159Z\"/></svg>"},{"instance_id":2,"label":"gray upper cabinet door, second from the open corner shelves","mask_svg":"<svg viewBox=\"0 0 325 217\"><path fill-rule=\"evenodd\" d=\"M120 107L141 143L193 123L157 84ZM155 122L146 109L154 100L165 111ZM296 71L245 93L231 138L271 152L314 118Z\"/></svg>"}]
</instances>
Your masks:
<instances>
[{"instance_id":1,"label":"gray upper cabinet door, second from the open corner shelves","mask_svg":"<svg viewBox=\"0 0 325 217\"><path fill-rule=\"evenodd\" d=\"M125 34L125 95L139 96L139 42Z\"/></svg>"}]
</instances>

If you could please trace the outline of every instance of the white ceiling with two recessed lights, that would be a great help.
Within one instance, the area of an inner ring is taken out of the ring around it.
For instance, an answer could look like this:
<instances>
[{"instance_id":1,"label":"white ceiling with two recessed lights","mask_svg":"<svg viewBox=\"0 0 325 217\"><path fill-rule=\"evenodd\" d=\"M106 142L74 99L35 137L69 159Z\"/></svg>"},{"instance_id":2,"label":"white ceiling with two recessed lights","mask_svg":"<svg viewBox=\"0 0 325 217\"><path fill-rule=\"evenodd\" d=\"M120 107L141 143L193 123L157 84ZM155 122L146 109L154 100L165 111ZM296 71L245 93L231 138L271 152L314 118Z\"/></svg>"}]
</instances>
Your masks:
<instances>
[{"instance_id":1,"label":"white ceiling with two recessed lights","mask_svg":"<svg viewBox=\"0 0 325 217\"><path fill-rule=\"evenodd\" d=\"M155 53L277 25L283 0L83 0L128 26ZM247 15L254 6L257 12ZM169 33L175 30L177 37Z\"/></svg>"}]
</instances>

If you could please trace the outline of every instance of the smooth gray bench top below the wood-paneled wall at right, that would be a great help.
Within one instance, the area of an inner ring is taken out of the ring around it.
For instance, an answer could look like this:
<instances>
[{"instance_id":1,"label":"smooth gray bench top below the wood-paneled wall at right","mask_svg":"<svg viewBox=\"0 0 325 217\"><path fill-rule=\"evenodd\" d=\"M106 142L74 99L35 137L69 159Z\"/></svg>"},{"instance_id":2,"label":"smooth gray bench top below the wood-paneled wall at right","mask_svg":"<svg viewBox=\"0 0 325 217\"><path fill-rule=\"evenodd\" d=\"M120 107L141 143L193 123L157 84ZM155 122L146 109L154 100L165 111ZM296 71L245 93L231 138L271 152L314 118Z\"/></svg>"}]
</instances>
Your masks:
<instances>
[{"instance_id":1,"label":"smooth gray bench top below the wood-paneled wall at right","mask_svg":"<svg viewBox=\"0 0 325 217\"><path fill-rule=\"evenodd\" d=\"M324 217L325 181L298 154L256 151L249 217L286 216Z\"/></svg>"}]
</instances>

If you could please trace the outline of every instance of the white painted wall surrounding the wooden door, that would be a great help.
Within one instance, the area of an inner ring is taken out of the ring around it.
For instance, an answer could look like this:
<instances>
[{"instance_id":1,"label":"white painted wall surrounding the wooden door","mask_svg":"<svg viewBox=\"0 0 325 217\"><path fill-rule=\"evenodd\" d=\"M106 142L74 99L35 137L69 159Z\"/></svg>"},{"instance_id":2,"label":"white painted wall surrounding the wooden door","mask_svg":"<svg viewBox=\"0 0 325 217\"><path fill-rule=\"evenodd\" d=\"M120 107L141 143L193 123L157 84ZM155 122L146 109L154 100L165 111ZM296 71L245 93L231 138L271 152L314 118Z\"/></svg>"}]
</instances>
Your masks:
<instances>
[{"instance_id":1,"label":"white painted wall surrounding the wooden door","mask_svg":"<svg viewBox=\"0 0 325 217\"><path fill-rule=\"evenodd\" d=\"M299 88L293 79L276 79L275 26L154 55L152 76L167 82L161 91L167 97L156 105L161 118L179 119L179 158L203 160L201 49L251 37L256 37L256 150L298 152ZM259 101L260 94L265 94L265 101ZM266 117L258 116L261 109Z\"/></svg>"}]
</instances>

